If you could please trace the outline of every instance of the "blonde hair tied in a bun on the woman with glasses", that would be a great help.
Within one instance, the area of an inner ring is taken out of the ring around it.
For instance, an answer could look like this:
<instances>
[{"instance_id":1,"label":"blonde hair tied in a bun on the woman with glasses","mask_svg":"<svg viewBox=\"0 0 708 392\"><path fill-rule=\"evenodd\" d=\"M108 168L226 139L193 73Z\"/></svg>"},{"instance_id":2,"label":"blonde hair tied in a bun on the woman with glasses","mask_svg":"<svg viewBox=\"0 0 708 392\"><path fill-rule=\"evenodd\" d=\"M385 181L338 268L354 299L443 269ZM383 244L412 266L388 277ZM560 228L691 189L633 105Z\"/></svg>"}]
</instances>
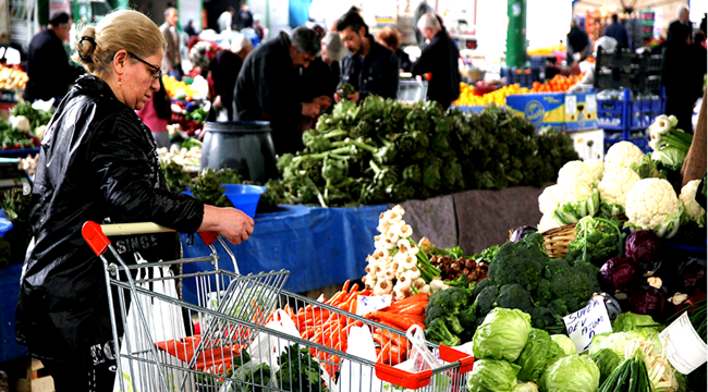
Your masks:
<instances>
[{"instance_id":1,"label":"blonde hair tied in a bun on the woman with glasses","mask_svg":"<svg viewBox=\"0 0 708 392\"><path fill-rule=\"evenodd\" d=\"M119 50L146 58L164 48L164 37L155 22L141 12L120 10L106 15L95 27L84 27L73 60L88 73L106 78Z\"/></svg>"}]
</instances>

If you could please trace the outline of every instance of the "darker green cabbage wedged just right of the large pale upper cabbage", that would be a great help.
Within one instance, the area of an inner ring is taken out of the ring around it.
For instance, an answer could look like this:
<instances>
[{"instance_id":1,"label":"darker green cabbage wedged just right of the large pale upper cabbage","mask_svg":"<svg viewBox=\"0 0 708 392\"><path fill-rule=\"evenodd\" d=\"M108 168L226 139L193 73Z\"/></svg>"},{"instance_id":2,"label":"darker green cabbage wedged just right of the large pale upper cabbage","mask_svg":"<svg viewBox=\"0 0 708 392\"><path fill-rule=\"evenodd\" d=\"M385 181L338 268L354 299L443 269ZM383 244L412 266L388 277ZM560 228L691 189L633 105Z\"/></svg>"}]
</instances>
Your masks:
<instances>
[{"instance_id":1,"label":"darker green cabbage wedged just right of the large pale upper cabbage","mask_svg":"<svg viewBox=\"0 0 708 392\"><path fill-rule=\"evenodd\" d=\"M521 366L518 380L538 382L546 366L562 356L563 350L551 340L548 332L532 329L526 346L516 360Z\"/></svg>"}]
</instances>

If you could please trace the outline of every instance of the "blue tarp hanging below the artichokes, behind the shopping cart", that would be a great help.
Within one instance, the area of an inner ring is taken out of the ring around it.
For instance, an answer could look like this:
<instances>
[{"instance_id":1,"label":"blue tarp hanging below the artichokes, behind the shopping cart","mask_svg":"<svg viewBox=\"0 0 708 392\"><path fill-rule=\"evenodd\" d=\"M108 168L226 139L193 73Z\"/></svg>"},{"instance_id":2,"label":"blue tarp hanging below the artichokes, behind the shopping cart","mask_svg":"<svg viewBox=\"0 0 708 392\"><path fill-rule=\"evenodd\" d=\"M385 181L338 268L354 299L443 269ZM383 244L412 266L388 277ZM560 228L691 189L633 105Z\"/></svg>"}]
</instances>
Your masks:
<instances>
[{"instance_id":1,"label":"blue tarp hanging below the artichokes, behind the shopping cart","mask_svg":"<svg viewBox=\"0 0 708 392\"><path fill-rule=\"evenodd\" d=\"M378 234L379 213L387 206L357 208L315 208L280 206L279 211L257 215L253 235L241 245L229 247L236 257L242 274L264 271L290 271L284 289L301 293L338 284L347 279L359 279L366 268L366 256L374 252L374 235ZM210 254L200 238L186 245L182 234L184 257ZM229 255L215 245L219 267L233 271ZM184 273L212 270L209 262L184 265ZM192 285L187 285L192 283ZM183 286L184 299L196 303L193 280Z\"/></svg>"}]
</instances>

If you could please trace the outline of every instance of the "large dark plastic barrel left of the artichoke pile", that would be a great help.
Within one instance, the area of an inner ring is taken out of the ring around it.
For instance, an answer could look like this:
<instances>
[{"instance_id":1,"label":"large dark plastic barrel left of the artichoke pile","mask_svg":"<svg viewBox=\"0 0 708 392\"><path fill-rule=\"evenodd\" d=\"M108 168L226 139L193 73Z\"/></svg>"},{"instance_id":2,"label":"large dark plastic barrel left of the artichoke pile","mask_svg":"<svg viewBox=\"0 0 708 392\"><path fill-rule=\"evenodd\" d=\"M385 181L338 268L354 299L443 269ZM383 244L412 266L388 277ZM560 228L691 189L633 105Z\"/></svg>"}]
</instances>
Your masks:
<instances>
[{"instance_id":1,"label":"large dark plastic barrel left of the artichoke pile","mask_svg":"<svg viewBox=\"0 0 708 392\"><path fill-rule=\"evenodd\" d=\"M204 130L203 169L236 169L244 180L260 183L278 177L269 122L208 122Z\"/></svg>"}]
</instances>

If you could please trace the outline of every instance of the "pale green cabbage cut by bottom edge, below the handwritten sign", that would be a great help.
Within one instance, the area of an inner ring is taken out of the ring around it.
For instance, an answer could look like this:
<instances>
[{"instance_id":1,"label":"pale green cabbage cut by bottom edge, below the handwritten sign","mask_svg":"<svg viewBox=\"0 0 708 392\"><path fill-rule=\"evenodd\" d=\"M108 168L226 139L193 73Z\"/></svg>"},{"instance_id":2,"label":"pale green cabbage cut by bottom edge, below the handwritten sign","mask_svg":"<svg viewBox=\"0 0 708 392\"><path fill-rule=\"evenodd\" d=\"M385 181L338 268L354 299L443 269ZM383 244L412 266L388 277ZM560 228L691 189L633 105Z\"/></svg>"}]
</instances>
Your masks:
<instances>
[{"instance_id":1,"label":"pale green cabbage cut by bottom edge, below the handwritten sign","mask_svg":"<svg viewBox=\"0 0 708 392\"><path fill-rule=\"evenodd\" d=\"M546 368L539 387L545 392L596 392L600 369L587 356L569 355Z\"/></svg>"}]
</instances>

